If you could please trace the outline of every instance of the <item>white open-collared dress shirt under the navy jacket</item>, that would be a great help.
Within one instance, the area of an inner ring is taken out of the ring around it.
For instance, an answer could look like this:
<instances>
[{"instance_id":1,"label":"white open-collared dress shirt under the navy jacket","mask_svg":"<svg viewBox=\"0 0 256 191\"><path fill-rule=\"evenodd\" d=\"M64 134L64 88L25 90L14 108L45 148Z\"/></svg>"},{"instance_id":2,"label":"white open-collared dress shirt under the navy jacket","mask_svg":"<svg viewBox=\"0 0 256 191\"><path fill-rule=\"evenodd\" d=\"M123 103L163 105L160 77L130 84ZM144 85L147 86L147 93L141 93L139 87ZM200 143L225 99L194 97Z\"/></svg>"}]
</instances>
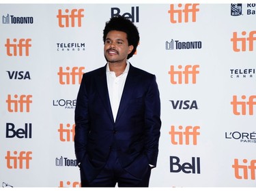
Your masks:
<instances>
[{"instance_id":1,"label":"white open-collared dress shirt under the navy jacket","mask_svg":"<svg viewBox=\"0 0 256 191\"><path fill-rule=\"evenodd\" d=\"M130 63L128 60L126 61L126 64L127 65L126 69L124 69L124 73L119 76L115 76L115 72L110 71L109 63L106 65L106 82L108 84L109 99L114 120L117 117L117 111L123 94L124 84L130 68Z\"/></svg>"}]
</instances>

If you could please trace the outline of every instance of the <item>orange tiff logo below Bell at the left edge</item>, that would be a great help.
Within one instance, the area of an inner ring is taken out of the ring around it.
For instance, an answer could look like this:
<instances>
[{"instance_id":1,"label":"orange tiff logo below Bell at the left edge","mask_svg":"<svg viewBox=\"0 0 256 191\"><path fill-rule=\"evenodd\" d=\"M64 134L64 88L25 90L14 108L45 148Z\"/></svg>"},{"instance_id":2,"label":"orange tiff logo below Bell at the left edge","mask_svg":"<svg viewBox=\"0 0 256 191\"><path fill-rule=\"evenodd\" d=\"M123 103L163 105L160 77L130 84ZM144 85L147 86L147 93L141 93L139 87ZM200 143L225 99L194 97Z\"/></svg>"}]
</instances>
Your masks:
<instances>
[{"instance_id":1,"label":"orange tiff logo below Bell at the left edge","mask_svg":"<svg viewBox=\"0 0 256 191\"><path fill-rule=\"evenodd\" d=\"M29 160L32 160L31 157L32 152L22 151L18 154L18 152L14 151L14 155L11 156L11 152L8 151L5 159L7 160L8 169L23 169L23 162L25 162L25 168L29 169Z\"/></svg>"}]
</instances>

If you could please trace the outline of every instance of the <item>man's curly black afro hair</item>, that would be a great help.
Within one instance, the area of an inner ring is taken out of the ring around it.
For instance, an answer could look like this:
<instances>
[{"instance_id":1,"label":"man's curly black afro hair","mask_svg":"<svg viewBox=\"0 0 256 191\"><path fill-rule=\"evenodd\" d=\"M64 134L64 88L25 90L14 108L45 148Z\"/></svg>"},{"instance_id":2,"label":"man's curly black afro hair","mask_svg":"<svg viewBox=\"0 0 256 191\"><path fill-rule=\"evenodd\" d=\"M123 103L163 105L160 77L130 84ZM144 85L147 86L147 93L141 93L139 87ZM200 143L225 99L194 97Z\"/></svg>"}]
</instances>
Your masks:
<instances>
[{"instance_id":1,"label":"man's curly black afro hair","mask_svg":"<svg viewBox=\"0 0 256 191\"><path fill-rule=\"evenodd\" d=\"M106 26L103 30L103 41L106 41L106 35L109 31L122 31L126 33L128 45L133 46L132 52L128 54L127 58L133 56L134 52L136 52L137 46L139 44L139 31L137 27L127 18L123 16L115 16L106 22Z\"/></svg>"}]
</instances>

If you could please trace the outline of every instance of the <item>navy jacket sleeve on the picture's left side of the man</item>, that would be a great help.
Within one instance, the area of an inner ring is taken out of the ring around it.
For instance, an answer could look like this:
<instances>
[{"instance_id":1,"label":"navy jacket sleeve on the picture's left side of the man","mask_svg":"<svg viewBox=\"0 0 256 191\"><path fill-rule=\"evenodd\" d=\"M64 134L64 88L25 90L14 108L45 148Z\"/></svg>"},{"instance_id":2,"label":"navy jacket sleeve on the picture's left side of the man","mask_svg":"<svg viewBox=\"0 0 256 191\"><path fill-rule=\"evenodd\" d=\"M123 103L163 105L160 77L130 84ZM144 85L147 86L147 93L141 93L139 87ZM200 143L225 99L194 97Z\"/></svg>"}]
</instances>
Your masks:
<instances>
[{"instance_id":1,"label":"navy jacket sleeve on the picture's left side of the man","mask_svg":"<svg viewBox=\"0 0 256 191\"><path fill-rule=\"evenodd\" d=\"M83 74L83 79L81 81L81 85L76 99L76 108L74 111L74 150L78 163L81 162L83 156L86 153L87 137L89 133L89 110L85 81L85 74Z\"/></svg>"}]
</instances>

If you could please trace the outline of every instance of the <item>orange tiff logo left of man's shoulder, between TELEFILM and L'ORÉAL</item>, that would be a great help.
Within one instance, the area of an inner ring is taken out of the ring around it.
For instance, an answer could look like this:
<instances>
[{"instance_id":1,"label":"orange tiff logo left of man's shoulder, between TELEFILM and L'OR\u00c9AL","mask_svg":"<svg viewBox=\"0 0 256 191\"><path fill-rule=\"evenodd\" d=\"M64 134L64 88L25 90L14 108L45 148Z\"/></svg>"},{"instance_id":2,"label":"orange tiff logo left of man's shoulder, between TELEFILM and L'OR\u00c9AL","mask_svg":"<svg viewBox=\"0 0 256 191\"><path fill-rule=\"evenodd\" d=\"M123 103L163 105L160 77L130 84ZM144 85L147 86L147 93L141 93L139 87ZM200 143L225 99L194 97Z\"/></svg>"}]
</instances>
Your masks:
<instances>
[{"instance_id":1,"label":"orange tiff logo left of man's shoulder, between TELEFILM and L'OR\u00c9AL","mask_svg":"<svg viewBox=\"0 0 256 191\"><path fill-rule=\"evenodd\" d=\"M59 84L70 84L70 78L71 84L76 84L76 76L79 78L78 83L81 84L84 69L85 67L72 67L71 72L69 72L70 67L66 67L67 71L63 71L63 67L59 67L59 72L57 73L59 75Z\"/></svg>"}]
</instances>

